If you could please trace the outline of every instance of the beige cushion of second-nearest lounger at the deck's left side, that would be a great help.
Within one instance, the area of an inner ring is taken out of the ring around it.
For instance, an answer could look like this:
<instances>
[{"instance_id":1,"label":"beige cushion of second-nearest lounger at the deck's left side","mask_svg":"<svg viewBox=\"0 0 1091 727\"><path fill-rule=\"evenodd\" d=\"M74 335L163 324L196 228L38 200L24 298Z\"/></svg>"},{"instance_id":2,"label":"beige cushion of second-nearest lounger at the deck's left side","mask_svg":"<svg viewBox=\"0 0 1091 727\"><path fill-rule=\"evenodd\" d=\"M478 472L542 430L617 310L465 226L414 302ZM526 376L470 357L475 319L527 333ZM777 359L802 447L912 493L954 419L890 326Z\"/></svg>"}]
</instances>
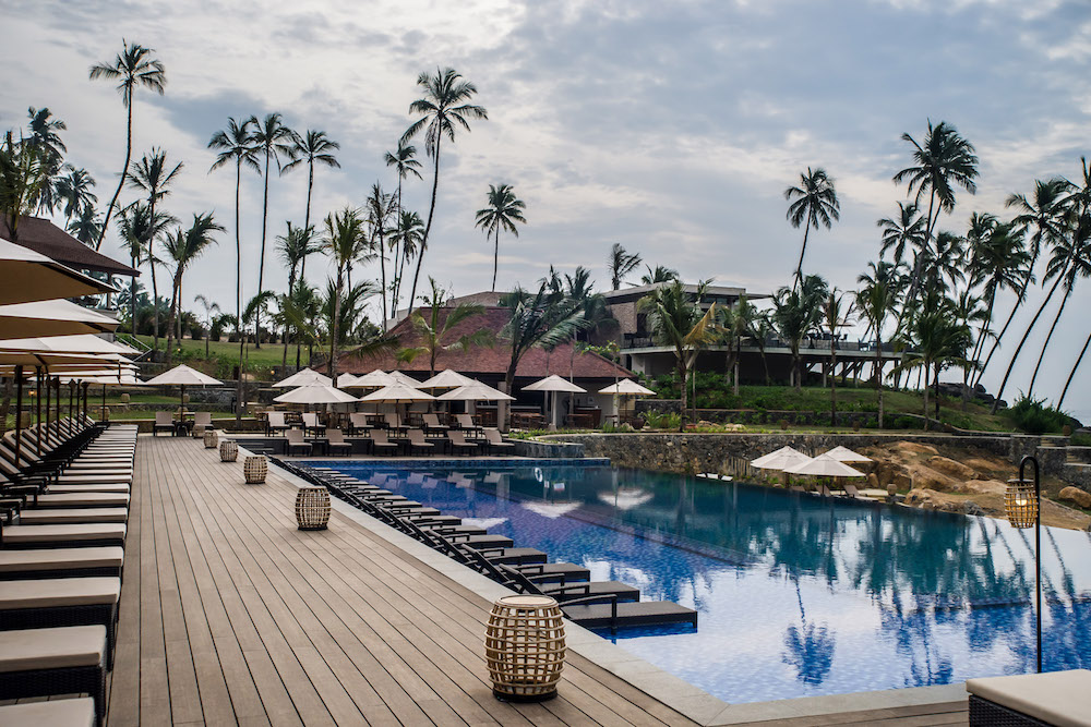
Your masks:
<instances>
[{"instance_id":1,"label":"beige cushion of second-nearest lounger at the deck's left side","mask_svg":"<svg viewBox=\"0 0 1091 727\"><path fill-rule=\"evenodd\" d=\"M0 673L98 666L105 656L105 626L0 631Z\"/></svg>"}]
</instances>

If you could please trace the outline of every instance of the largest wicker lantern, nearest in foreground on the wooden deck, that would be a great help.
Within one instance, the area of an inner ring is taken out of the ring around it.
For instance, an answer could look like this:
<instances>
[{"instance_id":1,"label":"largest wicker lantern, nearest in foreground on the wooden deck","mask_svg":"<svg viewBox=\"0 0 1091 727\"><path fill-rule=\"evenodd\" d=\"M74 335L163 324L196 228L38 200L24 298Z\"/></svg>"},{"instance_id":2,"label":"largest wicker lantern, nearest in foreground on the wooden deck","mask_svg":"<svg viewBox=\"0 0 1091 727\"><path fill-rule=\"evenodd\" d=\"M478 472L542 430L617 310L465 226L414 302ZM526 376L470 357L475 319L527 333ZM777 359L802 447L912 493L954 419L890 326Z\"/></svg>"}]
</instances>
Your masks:
<instances>
[{"instance_id":1,"label":"largest wicker lantern, nearest in foreground on the wooden deck","mask_svg":"<svg viewBox=\"0 0 1091 727\"><path fill-rule=\"evenodd\" d=\"M504 596L493 604L484 655L496 699L542 702L556 696L564 653L564 619L556 601Z\"/></svg>"}]
</instances>

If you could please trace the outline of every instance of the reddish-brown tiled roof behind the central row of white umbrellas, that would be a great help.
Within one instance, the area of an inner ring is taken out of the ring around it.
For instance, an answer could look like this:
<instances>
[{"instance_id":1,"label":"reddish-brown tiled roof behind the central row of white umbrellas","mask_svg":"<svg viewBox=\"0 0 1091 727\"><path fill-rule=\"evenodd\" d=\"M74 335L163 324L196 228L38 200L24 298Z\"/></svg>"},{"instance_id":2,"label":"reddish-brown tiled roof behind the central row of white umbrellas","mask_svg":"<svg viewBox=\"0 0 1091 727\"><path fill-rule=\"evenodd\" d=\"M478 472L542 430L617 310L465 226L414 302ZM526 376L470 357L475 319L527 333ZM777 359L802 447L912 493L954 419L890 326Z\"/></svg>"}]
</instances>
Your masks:
<instances>
[{"instance_id":1,"label":"reddish-brown tiled roof behind the central row of white umbrellas","mask_svg":"<svg viewBox=\"0 0 1091 727\"><path fill-rule=\"evenodd\" d=\"M441 313L441 319L446 317L446 313ZM507 364L512 358L512 350L507 341L500 339L500 330L507 323L509 313L507 308L488 307L479 316L467 318L455 326L443 339L444 344L458 340L461 336L472 334L480 329L493 331L496 336L494 347L470 347L466 351L441 351L435 359L435 369L453 368L467 376L496 375L503 377L507 372ZM395 326L392 334L400 337L400 348L413 348L420 346L421 336L412 329L409 320L403 320ZM543 349L535 348L527 351L519 360L519 366L515 371L518 377L543 378L550 374L568 377L570 360L572 374L575 378L600 378L612 381L614 377L632 378L633 372L624 366L600 356L597 353L576 353L572 358L572 343L562 343L551 353ZM547 360L549 366L547 368ZM337 364L337 368L344 373L363 374L375 368L391 371L400 368L407 373L419 372L428 376L428 355L421 354L412 363L398 362L394 353L387 353L376 359L359 359L351 353L343 354ZM420 376L418 376L420 378Z\"/></svg>"}]
</instances>

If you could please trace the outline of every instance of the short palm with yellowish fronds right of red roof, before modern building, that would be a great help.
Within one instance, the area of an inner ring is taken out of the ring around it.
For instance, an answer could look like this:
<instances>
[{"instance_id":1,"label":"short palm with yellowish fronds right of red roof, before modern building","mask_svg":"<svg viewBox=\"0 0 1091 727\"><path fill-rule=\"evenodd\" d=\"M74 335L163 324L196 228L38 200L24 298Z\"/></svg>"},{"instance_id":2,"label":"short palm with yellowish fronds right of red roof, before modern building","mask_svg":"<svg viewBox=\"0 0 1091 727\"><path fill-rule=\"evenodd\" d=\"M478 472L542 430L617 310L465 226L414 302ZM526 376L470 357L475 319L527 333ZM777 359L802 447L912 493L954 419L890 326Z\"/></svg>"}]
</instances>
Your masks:
<instances>
[{"instance_id":1,"label":"short palm with yellowish fronds right of red roof, before modern building","mask_svg":"<svg viewBox=\"0 0 1091 727\"><path fill-rule=\"evenodd\" d=\"M707 282L697 287L696 300L691 300L685 286L674 280L655 288L642 298L638 310L648 315L648 324L660 346L669 346L674 351L674 367L682 387L682 417L685 419L686 392L690 372L697 361L697 354L715 340L716 304L702 312L700 299ZM680 431L683 425L680 425Z\"/></svg>"}]
</instances>

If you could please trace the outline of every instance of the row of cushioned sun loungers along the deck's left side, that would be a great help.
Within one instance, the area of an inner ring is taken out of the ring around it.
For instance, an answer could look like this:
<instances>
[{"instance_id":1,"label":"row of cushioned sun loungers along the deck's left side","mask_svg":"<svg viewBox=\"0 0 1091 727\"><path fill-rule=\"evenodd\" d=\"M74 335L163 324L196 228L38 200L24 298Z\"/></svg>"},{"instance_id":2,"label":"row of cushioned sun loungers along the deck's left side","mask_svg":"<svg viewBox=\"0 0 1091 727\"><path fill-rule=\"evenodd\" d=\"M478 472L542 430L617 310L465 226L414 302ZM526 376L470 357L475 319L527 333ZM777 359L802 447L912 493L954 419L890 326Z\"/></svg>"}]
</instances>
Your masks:
<instances>
[{"instance_id":1,"label":"row of cushioned sun loungers along the deck's left side","mask_svg":"<svg viewBox=\"0 0 1091 727\"><path fill-rule=\"evenodd\" d=\"M93 725L121 603L136 427L63 420L0 439L0 725ZM16 446L17 444L17 446Z\"/></svg>"}]
</instances>

